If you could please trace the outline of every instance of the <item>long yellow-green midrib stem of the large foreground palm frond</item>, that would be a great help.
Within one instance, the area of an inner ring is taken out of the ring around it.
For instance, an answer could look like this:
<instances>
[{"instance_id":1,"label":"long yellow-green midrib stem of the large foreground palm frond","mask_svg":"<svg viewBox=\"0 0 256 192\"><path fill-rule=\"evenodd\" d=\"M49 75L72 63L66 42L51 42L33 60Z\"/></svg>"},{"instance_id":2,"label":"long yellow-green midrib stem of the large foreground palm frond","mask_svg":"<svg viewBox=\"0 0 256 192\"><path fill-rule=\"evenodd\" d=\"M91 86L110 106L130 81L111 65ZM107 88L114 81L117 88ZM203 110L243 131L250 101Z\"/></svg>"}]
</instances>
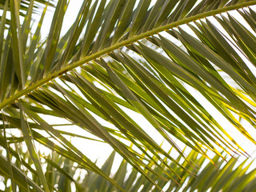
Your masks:
<instances>
[{"instance_id":1,"label":"long yellow-green midrib stem of the large foreground palm frond","mask_svg":"<svg viewBox=\"0 0 256 192\"><path fill-rule=\"evenodd\" d=\"M181 26L182 24L193 22L193 21L196 21L196 20L201 19L201 18L206 18L206 17L212 16L212 15L215 15L215 14L221 14L221 13L229 11L229 10L237 10L239 8L246 7L246 6L252 6L252 5L255 5L255 4L256 4L256 0L250 1L250 2L242 2L242 3L236 4L234 6L222 7L222 8L219 8L217 10L210 10L208 12L205 12L205 13L202 13L202 14L197 14L197 15L191 16L189 18L182 18L181 20L179 20L177 22L171 22L171 23L166 24L164 26L159 26L159 27L157 27L153 30L148 30L145 33L138 34L138 35L135 35L132 38L128 38L128 39L126 39L122 42L118 42L113 46L109 46L109 47L107 47L103 50L99 50L98 52L96 52L94 54L90 54L90 55L86 56L85 58L82 58L78 62L74 62L74 63L72 63L68 66L65 66L61 70L55 71L52 74L48 74L45 78L42 78L38 82L35 82L34 84L27 86L24 90L18 91L18 93L12 95L10 98L4 99L2 101L2 103L0 103L0 110L5 108L6 106L9 106L11 103L15 102L19 98L22 98L23 96L26 96L27 94L30 94L30 92L32 92L33 90L38 89L40 86L45 85L47 82L50 82L52 79L58 78L62 74L65 74L66 72L68 72L70 70L74 70L74 68L76 68L78 66L82 66L86 62L90 62L90 61L94 60L95 58L99 58L100 56L102 56L104 54L107 54L107 53L110 53L111 51L116 50L116 49L118 49L122 46L127 46L130 43L137 42L138 40L140 40L142 38L150 37L153 34L158 34L159 32L162 32L164 30L169 30L169 29L174 28L176 26Z\"/></svg>"}]
</instances>

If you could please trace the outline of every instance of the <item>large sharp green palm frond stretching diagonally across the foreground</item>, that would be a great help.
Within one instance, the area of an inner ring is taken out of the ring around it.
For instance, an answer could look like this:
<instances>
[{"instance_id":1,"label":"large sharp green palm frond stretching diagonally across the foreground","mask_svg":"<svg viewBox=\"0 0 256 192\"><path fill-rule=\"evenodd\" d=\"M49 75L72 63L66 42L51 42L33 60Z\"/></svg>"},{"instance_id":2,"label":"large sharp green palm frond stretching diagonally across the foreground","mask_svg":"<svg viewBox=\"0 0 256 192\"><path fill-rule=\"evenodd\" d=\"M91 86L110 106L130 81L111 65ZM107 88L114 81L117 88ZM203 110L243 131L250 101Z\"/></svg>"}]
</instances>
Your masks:
<instances>
[{"instance_id":1,"label":"large sharp green palm frond stretching diagonally across the foreground","mask_svg":"<svg viewBox=\"0 0 256 192\"><path fill-rule=\"evenodd\" d=\"M0 109L6 116L2 118L4 125L22 130L30 155L34 155L34 146L27 138L101 174L122 190L63 137L68 131L55 129L40 117L42 114L66 119L107 142L158 190L162 186L154 176L177 182L181 179L178 169L193 174L189 168L194 167L193 162L186 158L175 139L208 159L211 158L204 149L222 158L226 157L220 150L230 155L246 154L190 90L197 90L233 129L255 144L254 136L240 120L255 127L256 1L166 0L153 6L150 3L86 0L70 30L60 37L67 2L58 1L50 34L42 42L39 34L46 9L42 11L38 30L30 34L27 31L32 19L31 4L21 23L22 4L10 3L10 30L0 26ZM251 7L247 9L248 6ZM8 4L3 10L6 13ZM251 29L236 20L231 10L245 18ZM7 35L3 35L4 30ZM126 114L126 108L146 118L185 158L186 166ZM110 123L111 128L102 126L102 122ZM40 158L33 161L40 164ZM165 174L159 174L149 162ZM41 169L36 168L46 187Z\"/></svg>"}]
</instances>

